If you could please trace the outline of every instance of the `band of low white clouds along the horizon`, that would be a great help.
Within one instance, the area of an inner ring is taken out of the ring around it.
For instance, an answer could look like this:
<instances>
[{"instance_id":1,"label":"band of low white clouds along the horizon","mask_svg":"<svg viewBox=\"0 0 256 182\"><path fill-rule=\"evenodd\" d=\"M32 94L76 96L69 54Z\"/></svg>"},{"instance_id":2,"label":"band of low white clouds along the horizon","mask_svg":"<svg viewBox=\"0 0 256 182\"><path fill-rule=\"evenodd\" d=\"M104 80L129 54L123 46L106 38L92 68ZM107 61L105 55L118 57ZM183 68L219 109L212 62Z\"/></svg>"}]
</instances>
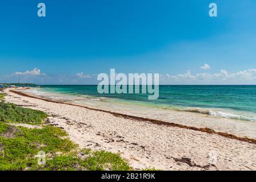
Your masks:
<instances>
[{"instance_id":1,"label":"band of low white clouds along the horizon","mask_svg":"<svg viewBox=\"0 0 256 182\"><path fill-rule=\"evenodd\" d=\"M1 81L13 82L21 76L23 82L33 82L36 84L98 84L97 74L76 73L75 75L46 75L40 69L25 72L15 72L11 75L1 76ZM161 74L160 84L256 84L256 69L246 69L229 73L226 69L221 69L218 73L180 73L177 75Z\"/></svg>"}]
</instances>

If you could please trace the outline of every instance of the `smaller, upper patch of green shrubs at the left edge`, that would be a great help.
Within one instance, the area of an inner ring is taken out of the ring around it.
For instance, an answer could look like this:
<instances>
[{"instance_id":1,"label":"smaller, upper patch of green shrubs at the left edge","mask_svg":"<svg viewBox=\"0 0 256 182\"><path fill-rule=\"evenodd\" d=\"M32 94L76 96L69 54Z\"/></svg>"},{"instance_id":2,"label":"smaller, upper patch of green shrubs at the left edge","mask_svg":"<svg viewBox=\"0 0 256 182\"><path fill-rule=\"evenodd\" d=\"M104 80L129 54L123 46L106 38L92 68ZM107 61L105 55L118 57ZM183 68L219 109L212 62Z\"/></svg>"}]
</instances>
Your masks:
<instances>
[{"instance_id":1,"label":"smaller, upper patch of green shrubs at the left edge","mask_svg":"<svg viewBox=\"0 0 256 182\"><path fill-rule=\"evenodd\" d=\"M0 121L11 123L41 124L47 114L39 110L18 107L15 104L0 101Z\"/></svg>"}]
</instances>

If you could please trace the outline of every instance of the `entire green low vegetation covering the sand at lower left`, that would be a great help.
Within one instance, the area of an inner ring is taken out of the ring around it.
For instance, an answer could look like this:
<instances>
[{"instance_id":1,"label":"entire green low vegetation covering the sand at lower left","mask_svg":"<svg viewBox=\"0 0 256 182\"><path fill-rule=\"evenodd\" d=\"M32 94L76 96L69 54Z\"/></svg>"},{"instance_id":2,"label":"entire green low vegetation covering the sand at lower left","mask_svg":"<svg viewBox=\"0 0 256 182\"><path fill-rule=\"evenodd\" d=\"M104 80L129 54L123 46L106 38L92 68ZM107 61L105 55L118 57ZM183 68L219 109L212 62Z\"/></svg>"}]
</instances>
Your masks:
<instances>
[{"instance_id":1,"label":"entire green low vegetation covering the sand at lower left","mask_svg":"<svg viewBox=\"0 0 256 182\"><path fill-rule=\"evenodd\" d=\"M41 124L42 111L0 104L0 170L130 170L118 154L79 149L59 127L28 129L9 123ZM8 123L7 123L8 122ZM39 151L46 164L38 165Z\"/></svg>"}]
</instances>

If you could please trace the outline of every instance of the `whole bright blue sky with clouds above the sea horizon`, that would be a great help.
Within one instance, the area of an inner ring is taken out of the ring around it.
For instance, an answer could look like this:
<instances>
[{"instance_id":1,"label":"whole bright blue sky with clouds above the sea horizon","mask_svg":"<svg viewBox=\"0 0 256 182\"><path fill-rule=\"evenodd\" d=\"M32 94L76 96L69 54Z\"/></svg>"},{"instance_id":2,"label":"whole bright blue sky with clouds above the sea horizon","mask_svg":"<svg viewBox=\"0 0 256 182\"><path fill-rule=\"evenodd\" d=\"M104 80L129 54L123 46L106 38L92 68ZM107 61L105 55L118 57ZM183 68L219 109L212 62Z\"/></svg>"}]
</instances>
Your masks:
<instances>
[{"instance_id":1,"label":"whole bright blue sky with clouds above the sea horizon","mask_svg":"<svg viewBox=\"0 0 256 182\"><path fill-rule=\"evenodd\" d=\"M115 68L160 73L161 84L256 84L255 8L254 0L1 1L0 82L96 84Z\"/></svg>"}]
</instances>

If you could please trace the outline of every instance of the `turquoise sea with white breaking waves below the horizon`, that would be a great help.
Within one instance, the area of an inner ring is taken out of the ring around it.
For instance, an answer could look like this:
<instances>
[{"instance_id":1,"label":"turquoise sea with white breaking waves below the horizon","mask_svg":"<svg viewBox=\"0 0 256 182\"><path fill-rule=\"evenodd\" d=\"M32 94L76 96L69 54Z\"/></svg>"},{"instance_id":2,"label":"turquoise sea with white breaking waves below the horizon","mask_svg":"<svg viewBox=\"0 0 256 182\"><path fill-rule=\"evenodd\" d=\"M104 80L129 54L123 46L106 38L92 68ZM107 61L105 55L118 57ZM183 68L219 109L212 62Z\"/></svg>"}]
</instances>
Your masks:
<instances>
[{"instance_id":1,"label":"turquoise sea with white breaking waves below the horizon","mask_svg":"<svg viewBox=\"0 0 256 182\"><path fill-rule=\"evenodd\" d=\"M136 106L190 111L256 121L256 85L160 85L158 100L147 94L99 94L97 85L41 85L39 92L82 96Z\"/></svg>"}]
</instances>

